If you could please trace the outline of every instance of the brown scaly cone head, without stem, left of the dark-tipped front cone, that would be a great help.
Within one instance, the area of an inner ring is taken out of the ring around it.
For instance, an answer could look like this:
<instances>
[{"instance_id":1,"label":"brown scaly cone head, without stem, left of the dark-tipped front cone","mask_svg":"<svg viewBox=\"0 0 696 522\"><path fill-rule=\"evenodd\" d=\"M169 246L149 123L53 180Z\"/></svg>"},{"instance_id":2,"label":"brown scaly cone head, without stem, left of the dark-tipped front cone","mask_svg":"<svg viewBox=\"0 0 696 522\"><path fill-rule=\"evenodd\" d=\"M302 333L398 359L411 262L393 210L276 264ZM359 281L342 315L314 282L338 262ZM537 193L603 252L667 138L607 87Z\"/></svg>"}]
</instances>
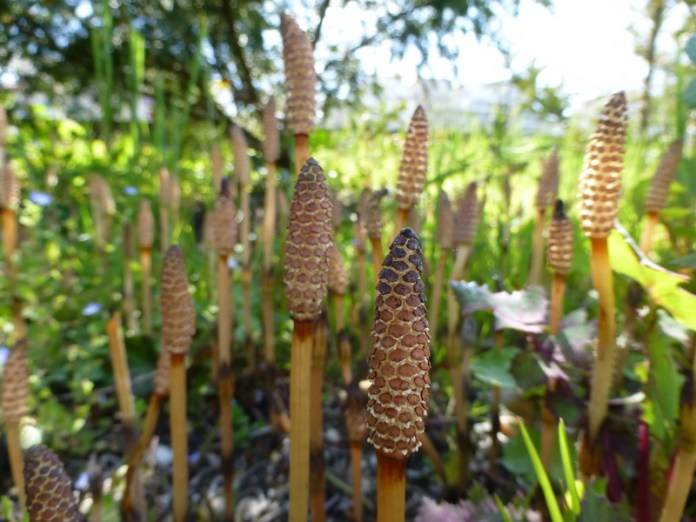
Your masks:
<instances>
[{"instance_id":1,"label":"brown scaly cone head, without stem, left of the dark-tipped front cone","mask_svg":"<svg viewBox=\"0 0 696 522\"><path fill-rule=\"evenodd\" d=\"M313 158L300 170L290 204L285 243L285 296L290 315L300 321L319 316L329 278L332 241L331 195Z\"/></svg>"}]
</instances>

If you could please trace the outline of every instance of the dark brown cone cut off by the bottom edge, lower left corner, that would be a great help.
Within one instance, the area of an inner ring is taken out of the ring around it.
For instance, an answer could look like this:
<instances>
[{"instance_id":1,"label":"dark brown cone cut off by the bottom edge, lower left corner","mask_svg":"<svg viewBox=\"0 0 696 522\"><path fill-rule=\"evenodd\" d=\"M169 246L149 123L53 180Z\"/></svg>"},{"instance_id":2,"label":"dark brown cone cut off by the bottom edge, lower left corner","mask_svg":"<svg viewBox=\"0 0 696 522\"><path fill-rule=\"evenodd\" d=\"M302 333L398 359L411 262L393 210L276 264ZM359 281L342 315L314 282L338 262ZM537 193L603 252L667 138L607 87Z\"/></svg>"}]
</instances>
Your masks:
<instances>
[{"instance_id":1,"label":"dark brown cone cut off by the bottom edge, lower left corner","mask_svg":"<svg viewBox=\"0 0 696 522\"><path fill-rule=\"evenodd\" d=\"M24 452L24 481L32 522L82 520L70 477L58 456L46 446L32 446Z\"/></svg>"}]
</instances>

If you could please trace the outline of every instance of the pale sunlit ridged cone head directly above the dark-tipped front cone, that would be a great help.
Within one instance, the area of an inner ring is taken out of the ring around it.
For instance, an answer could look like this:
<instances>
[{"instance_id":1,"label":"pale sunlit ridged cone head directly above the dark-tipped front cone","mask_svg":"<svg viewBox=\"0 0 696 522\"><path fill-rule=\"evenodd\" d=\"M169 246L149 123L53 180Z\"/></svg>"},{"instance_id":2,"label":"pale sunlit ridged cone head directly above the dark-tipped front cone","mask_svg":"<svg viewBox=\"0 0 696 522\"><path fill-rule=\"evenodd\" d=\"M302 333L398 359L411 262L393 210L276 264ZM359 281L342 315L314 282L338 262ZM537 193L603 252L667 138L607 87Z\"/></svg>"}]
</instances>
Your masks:
<instances>
[{"instance_id":1,"label":"pale sunlit ridged cone head directly above the dark-tipped front cone","mask_svg":"<svg viewBox=\"0 0 696 522\"><path fill-rule=\"evenodd\" d=\"M428 170L428 119L425 109L416 108L406 132L399 179L396 184L396 202L401 209L415 205L423 192Z\"/></svg>"}]
</instances>

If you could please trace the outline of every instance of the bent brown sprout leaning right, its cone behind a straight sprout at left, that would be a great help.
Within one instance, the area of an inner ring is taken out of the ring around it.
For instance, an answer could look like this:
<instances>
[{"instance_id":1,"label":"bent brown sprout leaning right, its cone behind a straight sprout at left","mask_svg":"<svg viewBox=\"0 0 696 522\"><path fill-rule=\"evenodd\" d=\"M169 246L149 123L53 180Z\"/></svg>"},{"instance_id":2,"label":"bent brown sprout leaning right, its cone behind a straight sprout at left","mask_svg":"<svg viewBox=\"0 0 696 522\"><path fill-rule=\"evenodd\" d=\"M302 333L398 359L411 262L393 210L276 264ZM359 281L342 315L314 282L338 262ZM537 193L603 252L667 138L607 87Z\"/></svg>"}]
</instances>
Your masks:
<instances>
[{"instance_id":1,"label":"bent brown sprout leaning right, its cone behind a straight sprout at left","mask_svg":"<svg viewBox=\"0 0 696 522\"><path fill-rule=\"evenodd\" d=\"M166 400L169 395L169 378L171 371L171 356L165 350L160 352L159 358L157 359L157 368L155 370L154 377L154 391L150 395L150 402L147 407L147 413L145 414L145 421L143 424L142 432L138 438L138 442L131 448L128 453L126 471L126 486L123 490L123 498L121 499L121 511L124 517L127 515L132 515L133 513L133 498L132 491L135 482L135 476L138 469L138 465L143 458L143 455L147 451L152 436L155 434L155 428L157 427L157 419L159 418L160 410L162 409L162 403Z\"/></svg>"}]
</instances>

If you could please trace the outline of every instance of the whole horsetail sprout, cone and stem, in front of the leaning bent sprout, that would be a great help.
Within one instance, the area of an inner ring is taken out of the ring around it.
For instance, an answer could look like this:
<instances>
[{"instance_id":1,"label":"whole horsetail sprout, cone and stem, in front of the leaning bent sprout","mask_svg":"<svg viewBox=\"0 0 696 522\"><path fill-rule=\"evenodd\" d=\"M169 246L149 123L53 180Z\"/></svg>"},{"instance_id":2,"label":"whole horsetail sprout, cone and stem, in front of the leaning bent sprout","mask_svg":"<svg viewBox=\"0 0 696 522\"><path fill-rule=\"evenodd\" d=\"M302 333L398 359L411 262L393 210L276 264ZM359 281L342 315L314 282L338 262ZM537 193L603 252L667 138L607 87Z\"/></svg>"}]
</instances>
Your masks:
<instances>
[{"instance_id":1,"label":"whole horsetail sprout, cone and stem, in front of the leaning bent sprout","mask_svg":"<svg viewBox=\"0 0 696 522\"><path fill-rule=\"evenodd\" d=\"M162 346L171 358L169 393L173 513L175 522L183 522L188 511L186 354L196 331L196 312L188 290L184 255L176 245L170 247L164 256L160 288Z\"/></svg>"}]
</instances>

